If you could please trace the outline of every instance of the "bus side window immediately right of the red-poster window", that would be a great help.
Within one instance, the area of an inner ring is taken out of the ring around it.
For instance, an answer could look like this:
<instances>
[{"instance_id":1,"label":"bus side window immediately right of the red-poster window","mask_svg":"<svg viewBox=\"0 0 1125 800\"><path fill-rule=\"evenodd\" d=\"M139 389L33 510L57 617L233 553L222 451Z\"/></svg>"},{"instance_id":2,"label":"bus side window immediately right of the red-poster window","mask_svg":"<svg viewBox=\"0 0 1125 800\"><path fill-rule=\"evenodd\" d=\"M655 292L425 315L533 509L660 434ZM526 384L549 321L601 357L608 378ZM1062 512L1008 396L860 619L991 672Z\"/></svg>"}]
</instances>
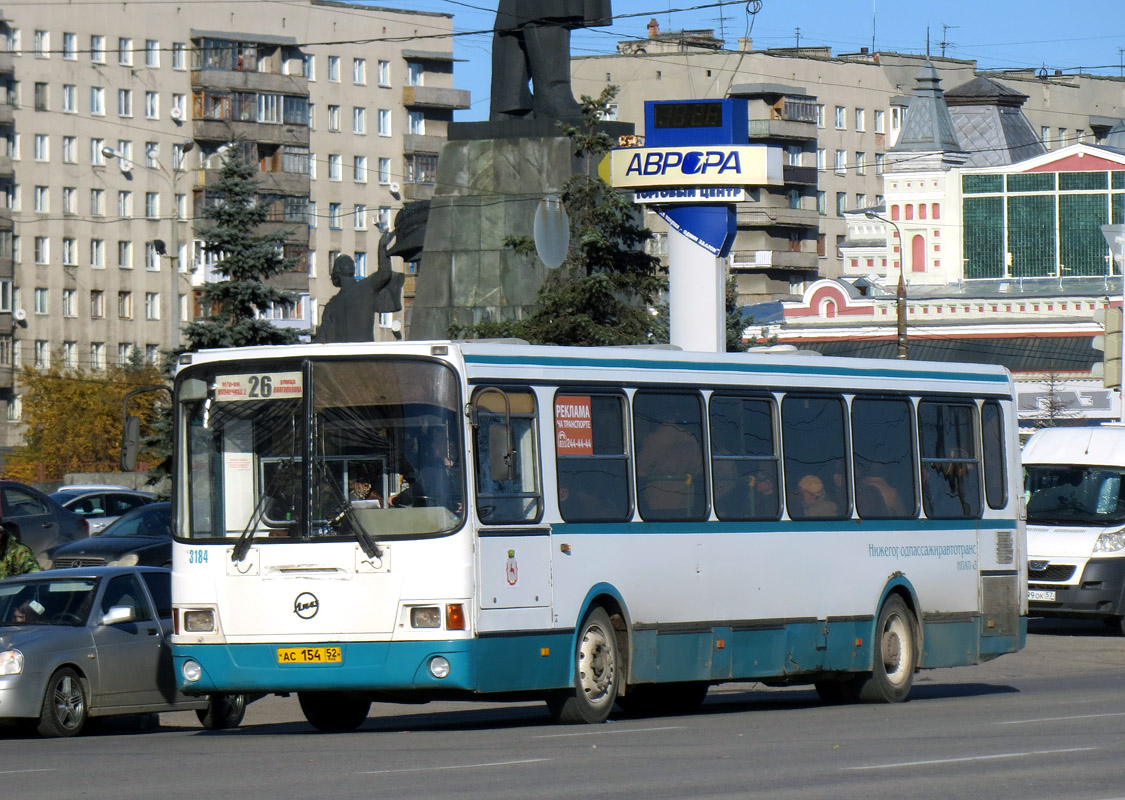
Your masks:
<instances>
[{"instance_id":1,"label":"bus side window immediately right of the red-poster window","mask_svg":"<svg viewBox=\"0 0 1125 800\"><path fill-rule=\"evenodd\" d=\"M700 396L638 392L633 439L640 515L666 521L706 519Z\"/></svg>"}]
</instances>

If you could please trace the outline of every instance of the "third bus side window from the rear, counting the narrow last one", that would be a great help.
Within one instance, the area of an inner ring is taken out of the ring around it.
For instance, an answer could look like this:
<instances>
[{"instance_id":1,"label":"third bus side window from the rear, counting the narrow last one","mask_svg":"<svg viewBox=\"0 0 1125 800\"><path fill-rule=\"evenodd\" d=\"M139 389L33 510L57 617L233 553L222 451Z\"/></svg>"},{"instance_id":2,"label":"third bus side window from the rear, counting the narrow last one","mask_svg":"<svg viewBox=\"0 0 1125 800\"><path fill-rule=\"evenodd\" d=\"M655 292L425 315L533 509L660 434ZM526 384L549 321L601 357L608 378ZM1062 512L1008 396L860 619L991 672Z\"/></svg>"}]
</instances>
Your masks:
<instances>
[{"instance_id":1,"label":"third bus side window from the rear, counting the narrow last one","mask_svg":"<svg viewBox=\"0 0 1125 800\"><path fill-rule=\"evenodd\" d=\"M918 515L914 414L899 398L852 401L855 507L867 520Z\"/></svg>"}]
</instances>

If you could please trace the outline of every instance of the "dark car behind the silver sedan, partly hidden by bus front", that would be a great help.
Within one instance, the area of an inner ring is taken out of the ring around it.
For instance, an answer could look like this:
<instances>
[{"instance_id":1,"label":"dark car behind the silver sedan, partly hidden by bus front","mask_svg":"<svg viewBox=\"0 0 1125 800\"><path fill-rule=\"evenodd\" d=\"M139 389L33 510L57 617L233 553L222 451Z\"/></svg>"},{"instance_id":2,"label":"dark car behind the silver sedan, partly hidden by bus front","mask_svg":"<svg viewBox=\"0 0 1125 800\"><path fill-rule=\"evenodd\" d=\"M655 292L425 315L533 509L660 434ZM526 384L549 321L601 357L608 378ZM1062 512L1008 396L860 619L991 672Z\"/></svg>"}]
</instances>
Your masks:
<instances>
[{"instance_id":1,"label":"dark car behind the silver sedan, partly hidden by bus front","mask_svg":"<svg viewBox=\"0 0 1125 800\"><path fill-rule=\"evenodd\" d=\"M55 549L51 558L56 569L171 566L171 503L150 503L134 509L100 533Z\"/></svg>"}]
</instances>

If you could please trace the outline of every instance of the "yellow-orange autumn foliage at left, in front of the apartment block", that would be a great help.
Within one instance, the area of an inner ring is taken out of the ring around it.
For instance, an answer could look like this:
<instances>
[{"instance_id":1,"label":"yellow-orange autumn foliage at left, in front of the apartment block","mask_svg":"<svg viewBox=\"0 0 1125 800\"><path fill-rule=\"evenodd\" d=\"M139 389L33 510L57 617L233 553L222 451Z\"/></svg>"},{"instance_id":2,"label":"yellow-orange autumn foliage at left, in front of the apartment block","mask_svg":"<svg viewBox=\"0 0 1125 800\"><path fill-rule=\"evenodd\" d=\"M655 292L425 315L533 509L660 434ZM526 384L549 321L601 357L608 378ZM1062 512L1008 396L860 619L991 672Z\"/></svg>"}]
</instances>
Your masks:
<instances>
[{"instance_id":1,"label":"yellow-orange autumn foliage at left, in front of the apartment block","mask_svg":"<svg viewBox=\"0 0 1125 800\"><path fill-rule=\"evenodd\" d=\"M61 361L61 359L56 359ZM105 370L27 367L19 374L24 408L24 444L8 456L4 477L28 482L62 480L66 473L111 473L119 469L122 401L141 386L160 384L159 368L134 361ZM129 401L151 435L156 403L166 393L145 393ZM142 448L142 459L158 453Z\"/></svg>"}]
</instances>

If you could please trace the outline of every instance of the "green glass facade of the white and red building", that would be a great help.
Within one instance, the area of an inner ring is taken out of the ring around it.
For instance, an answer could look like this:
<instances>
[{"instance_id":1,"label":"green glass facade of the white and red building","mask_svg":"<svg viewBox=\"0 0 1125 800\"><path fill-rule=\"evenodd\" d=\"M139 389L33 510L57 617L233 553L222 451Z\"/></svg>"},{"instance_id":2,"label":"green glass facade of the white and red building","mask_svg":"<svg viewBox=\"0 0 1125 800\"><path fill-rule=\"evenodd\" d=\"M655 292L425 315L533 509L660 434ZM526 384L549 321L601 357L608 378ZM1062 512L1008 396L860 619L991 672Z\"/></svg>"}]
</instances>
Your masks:
<instances>
[{"instance_id":1,"label":"green glass facade of the white and red building","mask_svg":"<svg viewBox=\"0 0 1125 800\"><path fill-rule=\"evenodd\" d=\"M1101 276L1120 224L1125 170L965 174L965 278Z\"/></svg>"}]
</instances>

